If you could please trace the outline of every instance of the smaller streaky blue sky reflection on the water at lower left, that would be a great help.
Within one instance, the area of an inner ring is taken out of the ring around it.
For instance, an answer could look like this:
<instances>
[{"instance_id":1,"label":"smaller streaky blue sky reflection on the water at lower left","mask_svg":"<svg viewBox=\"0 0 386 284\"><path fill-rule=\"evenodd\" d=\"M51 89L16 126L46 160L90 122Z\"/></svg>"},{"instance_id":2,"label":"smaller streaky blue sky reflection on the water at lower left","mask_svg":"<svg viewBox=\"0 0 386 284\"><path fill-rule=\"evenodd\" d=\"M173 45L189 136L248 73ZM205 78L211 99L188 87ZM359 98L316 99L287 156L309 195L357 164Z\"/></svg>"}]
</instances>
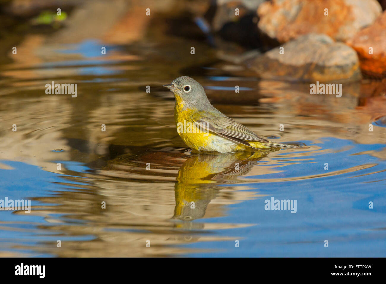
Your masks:
<instances>
[{"instance_id":1,"label":"smaller streaky blue sky reflection on the water at lower left","mask_svg":"<svg viewBox=\"0 0 386 284\"><path fill-rule=\"evenodd\" d=\"M12 170L0 170L0 180L2 186L0 188L0 199L8 200L15 199L32 199L35 197L52 196L55 191L71 191L71 187L59 185L63 182L63 175L58 173L47 172L41 170L39 167L29 165L22 162L1 161L1 163L12 167ZM56 162L55 162L56 163ZM88 169L81 166L77 162L65 162L66 167L71 170ZM74 185L81 185L82 182L75 182L67 180L66 183L73 183ZM73 188L76 188L74 186ZM31 200L30 206L55 206L47 202L39 202ZM0 220L2 226L7 229L0 229L0 250L19 252L23 254L30 254L34 257L51 257L52 254L36 253L36 247L39 247L42 242L58 240L58 232L43 230L37 226L44 224L44 226L55 226L56 224L47 223L45 216L37 216L31 213L14 214L15 211L0 211ZM50 214L51 217L60 218L63 214ZM14 230L17 229L17 230ZM22 230L21 230L22 229ZM92 240L94 236L60 236L61 241L66 240ZM31 250L17 249L9 247L10 243L17 243L18 245L30 246Z\"/></svg>"}]
</instances>

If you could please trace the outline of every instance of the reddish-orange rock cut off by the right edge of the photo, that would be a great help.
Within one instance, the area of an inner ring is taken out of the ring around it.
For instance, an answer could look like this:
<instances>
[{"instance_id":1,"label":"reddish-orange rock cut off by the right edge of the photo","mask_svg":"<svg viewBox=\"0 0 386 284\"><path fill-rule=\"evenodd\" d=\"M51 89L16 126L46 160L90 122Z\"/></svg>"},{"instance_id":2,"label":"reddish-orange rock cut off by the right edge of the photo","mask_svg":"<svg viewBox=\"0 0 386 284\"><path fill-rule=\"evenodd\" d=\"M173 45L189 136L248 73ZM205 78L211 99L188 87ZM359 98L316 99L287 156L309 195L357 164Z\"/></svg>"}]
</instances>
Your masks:
<instances>
[{"instance_id":1,"label":"reddish-orange rock cut off by the right edge of the photo","mask_svg":"<svg viewBox=\"0 0 386 284\"><path fill-rule=\"evenodd\" d=\"M372 77L386 77L386 11L374 24L359 31L347 43L359 54L363 73Z\"/></svg>"}]
</instances>

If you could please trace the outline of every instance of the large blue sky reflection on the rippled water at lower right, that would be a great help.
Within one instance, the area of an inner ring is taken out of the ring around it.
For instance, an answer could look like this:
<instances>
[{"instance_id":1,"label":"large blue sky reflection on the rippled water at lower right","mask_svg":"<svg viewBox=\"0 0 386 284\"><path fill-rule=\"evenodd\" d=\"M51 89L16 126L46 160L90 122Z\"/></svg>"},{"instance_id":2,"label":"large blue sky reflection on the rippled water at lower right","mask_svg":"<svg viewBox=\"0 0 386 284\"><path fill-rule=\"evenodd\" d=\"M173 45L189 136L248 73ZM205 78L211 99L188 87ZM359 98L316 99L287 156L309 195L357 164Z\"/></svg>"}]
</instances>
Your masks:
<instances>
[{"instance_id":1,"label":"large blue sky reflection on the rippled water at lower right","mask_svg":"<svg viewBox=\"0 0 386 284\"><path fill-rule=\"evenodd\" d=\"M385 145L361 145L350 140L325 138L319 146L332 153L308 155L313 160L279 167L280 173L248 179L305 179L283 182L252 182L251 190L266 195L228 206L228 216L205 219L206 223L245 223L252 226L215 230L217 237L240 241L196 242L186 247L212 250L191 257L384 257L386 253L386 161L362 151L382 150ZM343 150L344 148L344 150ZM283 151L283 158L288 155ZM304 158L304 157L300 157ZM279 165L296 161L278 162ZM329 170L324 170L324 163ZM371 168L337 175L307 176L345 170L374 163ZM258 167L258 165L257 165ZM245 186L245 184L242 184ZM265 200L296 199L297 212L265 210ZM373 202L373 209L369 209ZM202 222L203 220L195 220ZM328 240L328 248L324 241Z\"/></svg>"}]
</instances>

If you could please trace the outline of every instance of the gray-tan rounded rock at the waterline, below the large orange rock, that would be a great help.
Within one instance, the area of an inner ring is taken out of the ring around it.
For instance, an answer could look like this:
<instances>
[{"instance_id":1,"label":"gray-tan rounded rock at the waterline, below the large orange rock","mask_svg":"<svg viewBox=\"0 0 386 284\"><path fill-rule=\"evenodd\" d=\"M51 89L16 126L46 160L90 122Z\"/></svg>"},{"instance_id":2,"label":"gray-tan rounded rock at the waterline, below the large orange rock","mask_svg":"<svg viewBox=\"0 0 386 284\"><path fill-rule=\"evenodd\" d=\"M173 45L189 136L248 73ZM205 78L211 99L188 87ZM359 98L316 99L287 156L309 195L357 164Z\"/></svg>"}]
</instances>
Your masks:
<instances>
[{"instance_id":1,"label":"gray-tan rounded rock at the waterline, below the large orange rock","mask_svg":"<svg viewBox=\"0 0 386 284\"><path fill-rule=\"evenodd\" d=\"M264 79L332 82L361 78L355 50L325 34L300 36L246 64Z\"/></svg>"}]
</instances>

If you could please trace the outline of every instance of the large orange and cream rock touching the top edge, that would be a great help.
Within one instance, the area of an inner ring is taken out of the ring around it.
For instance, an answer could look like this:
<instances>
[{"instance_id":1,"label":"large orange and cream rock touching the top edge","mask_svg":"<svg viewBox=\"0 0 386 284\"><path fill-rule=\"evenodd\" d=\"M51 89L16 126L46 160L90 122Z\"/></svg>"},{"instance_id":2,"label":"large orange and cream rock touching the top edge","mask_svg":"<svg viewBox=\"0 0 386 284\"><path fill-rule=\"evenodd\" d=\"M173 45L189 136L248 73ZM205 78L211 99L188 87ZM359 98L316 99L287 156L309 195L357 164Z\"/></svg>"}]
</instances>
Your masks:
<instances>
[{"instance_id":1,"label":"large orange and cream rock touching the top edge","mask_svg":"<svg viewBox=\"0 0 386 284\"><path fill-rule=\"evenodd\" d=\"M259 29L280 43L311 32L346 41L381 13L376 0L272 0L257 9Z\"/></svg>"}]
</instances>

